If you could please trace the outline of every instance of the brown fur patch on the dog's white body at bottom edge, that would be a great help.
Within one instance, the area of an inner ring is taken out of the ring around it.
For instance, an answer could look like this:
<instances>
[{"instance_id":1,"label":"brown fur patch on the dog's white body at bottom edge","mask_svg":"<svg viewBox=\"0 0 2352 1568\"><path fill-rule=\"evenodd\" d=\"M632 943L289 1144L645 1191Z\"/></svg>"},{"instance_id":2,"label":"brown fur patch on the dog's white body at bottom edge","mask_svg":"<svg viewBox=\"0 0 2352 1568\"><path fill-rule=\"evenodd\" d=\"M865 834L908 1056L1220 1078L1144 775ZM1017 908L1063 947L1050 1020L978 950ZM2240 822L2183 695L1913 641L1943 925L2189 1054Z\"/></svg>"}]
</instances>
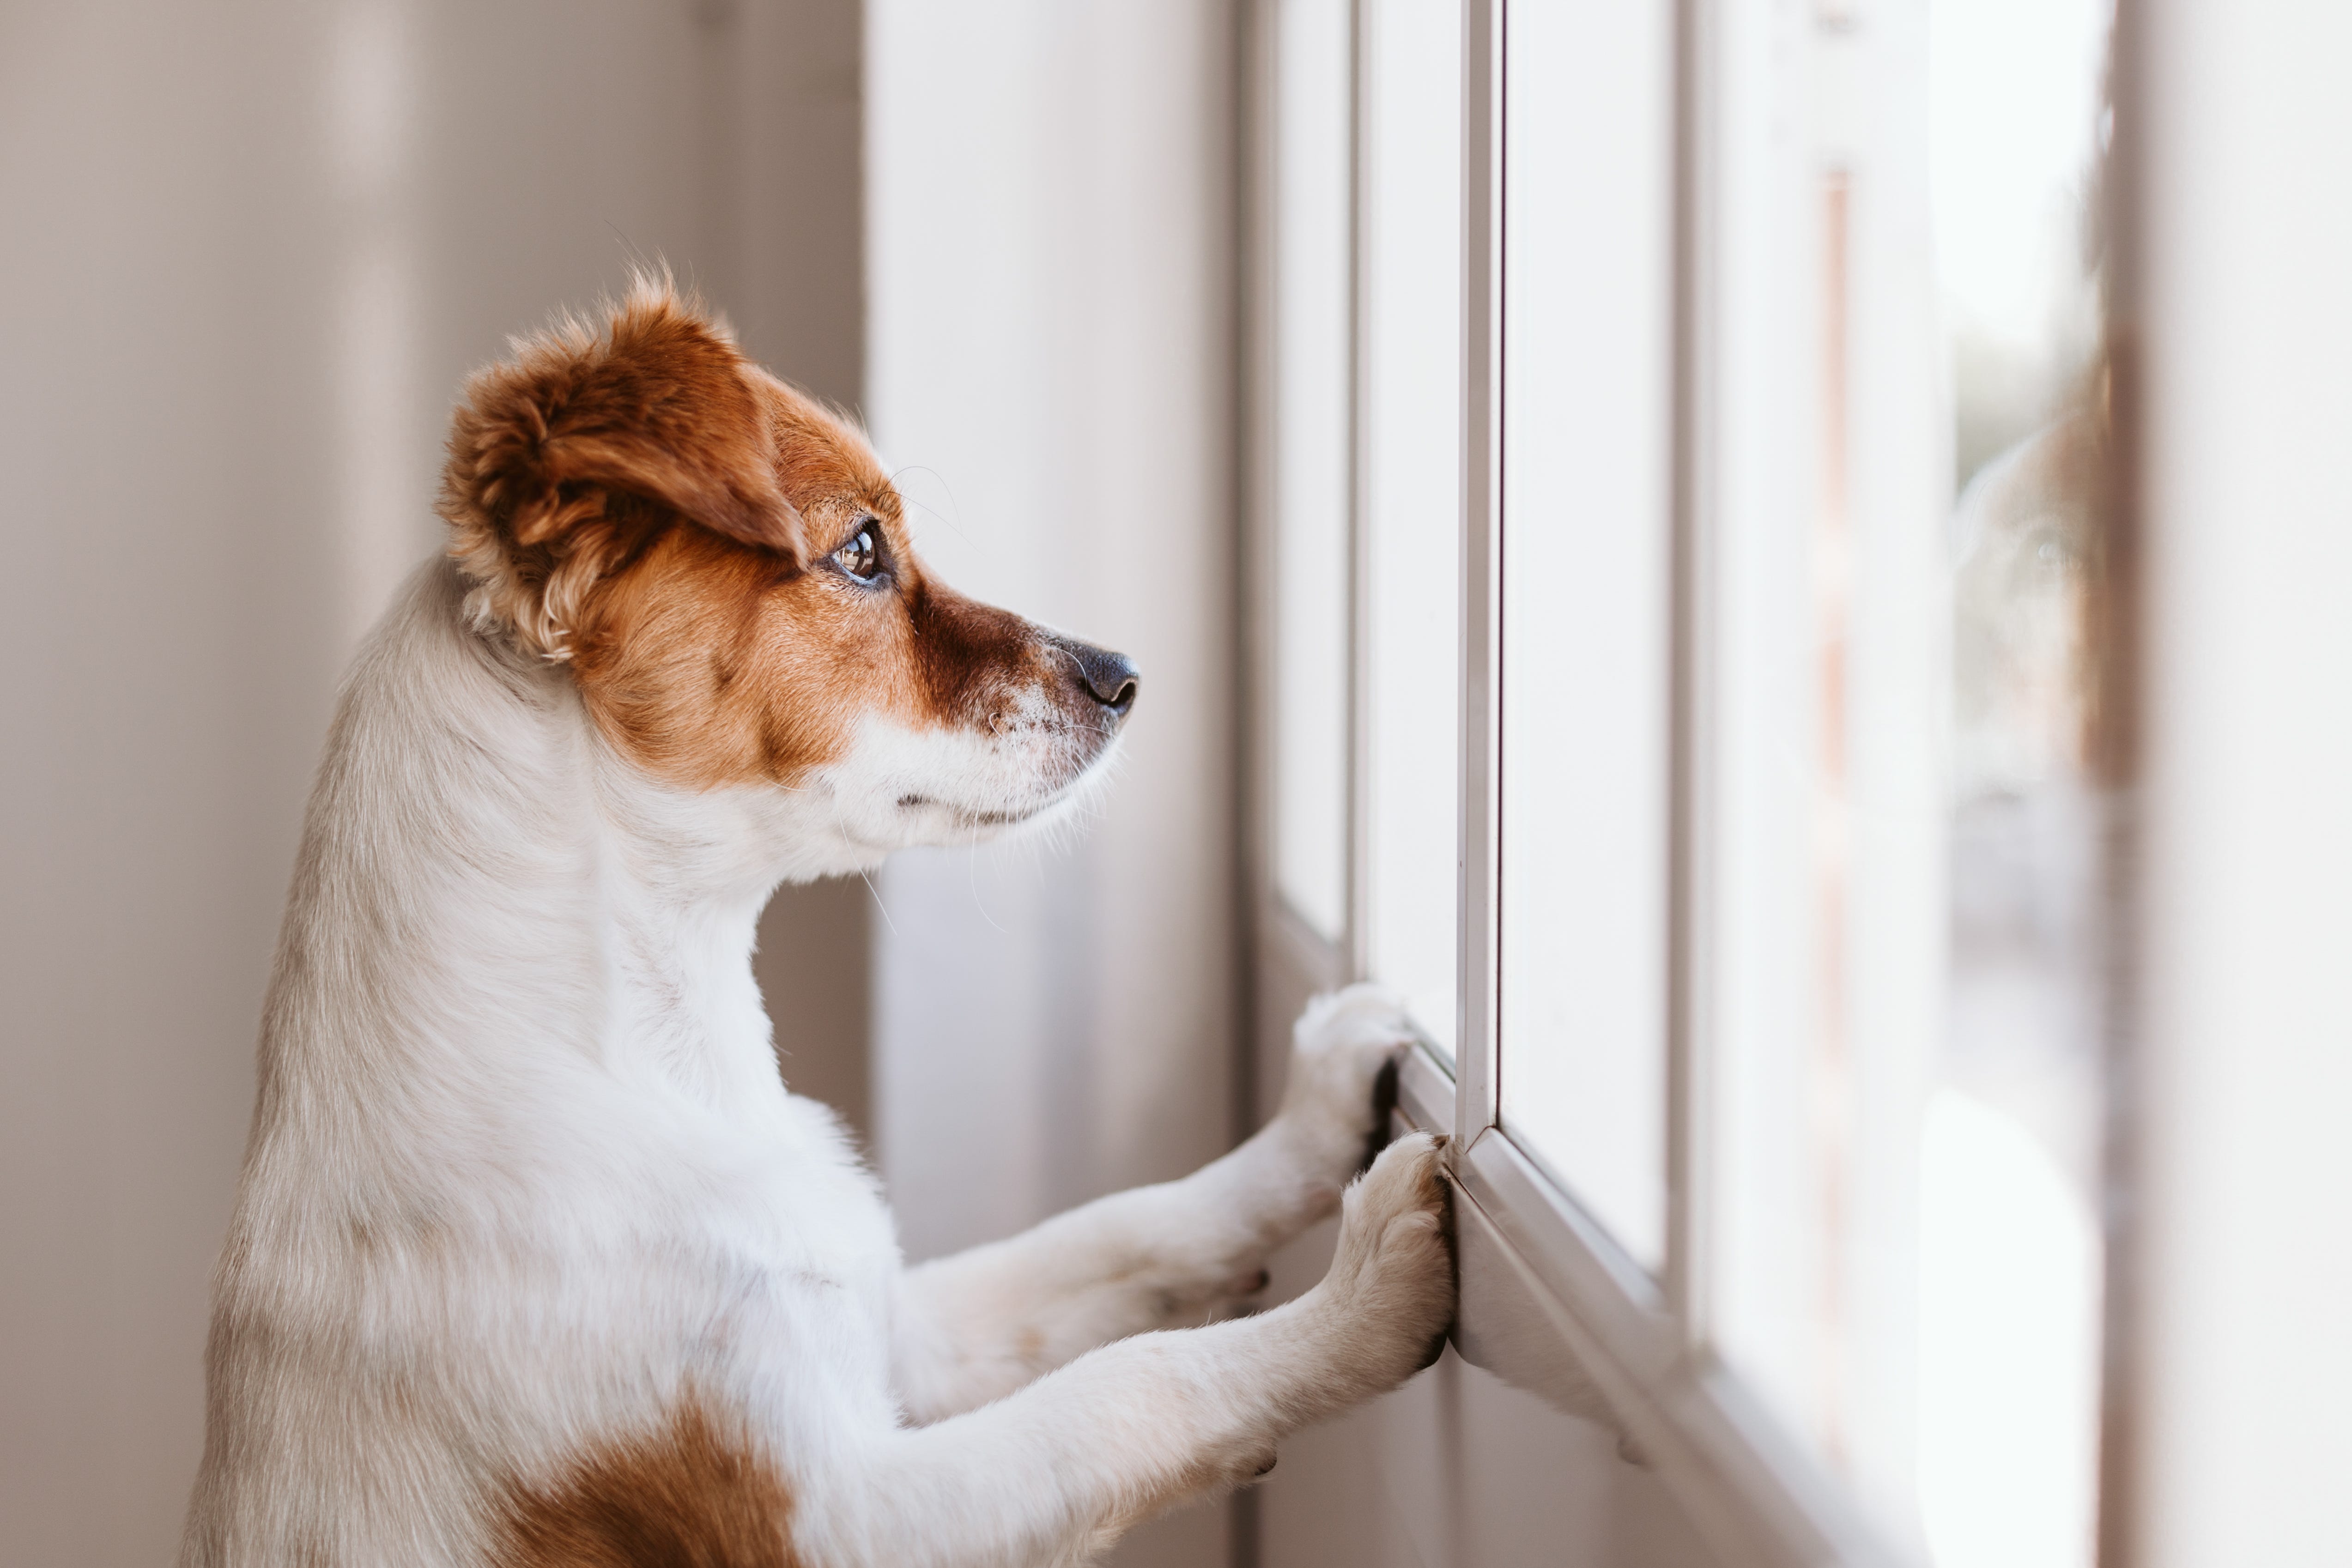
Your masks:
<instances>
[{"instance_id":1,"label":"brown fur patch on the dog's white body at bottom edge","mask_svg":"<svg viewBox=\"0 0 2352 1568\"><path fill-rule=\"evenodd\" d=\"M793 1568L793 1497L750 1439L687 1396L668 1425L602 1443L550 1486L513 1483L496 1568Z\"/></svg>"}]
</instances>

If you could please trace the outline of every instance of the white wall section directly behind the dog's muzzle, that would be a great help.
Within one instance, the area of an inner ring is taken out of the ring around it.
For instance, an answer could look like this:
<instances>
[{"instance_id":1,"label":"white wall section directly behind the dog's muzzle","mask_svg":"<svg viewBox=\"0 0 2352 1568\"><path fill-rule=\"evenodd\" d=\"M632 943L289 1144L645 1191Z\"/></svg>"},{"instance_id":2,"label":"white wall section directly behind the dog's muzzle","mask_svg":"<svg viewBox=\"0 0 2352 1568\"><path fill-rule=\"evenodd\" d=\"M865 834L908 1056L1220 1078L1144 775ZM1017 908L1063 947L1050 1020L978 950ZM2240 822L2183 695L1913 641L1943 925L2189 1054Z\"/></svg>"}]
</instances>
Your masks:
<instances>
[{"instance_id":1,"label":"white wall section directly behind the dog's muzzle","mask_svg":"<svg viewBox=\"0 0 2352 1568\"><path fill-rule=\"evenodd\" d=\"M1225 1147L1237 1030L1225 5L868 7L870 414L960 588L1143 670L1068 846L877 877L882 1171L913 1255ZM1211 1561L1192 1509L1124 1561Z\"/></svg>"}]
</instances>

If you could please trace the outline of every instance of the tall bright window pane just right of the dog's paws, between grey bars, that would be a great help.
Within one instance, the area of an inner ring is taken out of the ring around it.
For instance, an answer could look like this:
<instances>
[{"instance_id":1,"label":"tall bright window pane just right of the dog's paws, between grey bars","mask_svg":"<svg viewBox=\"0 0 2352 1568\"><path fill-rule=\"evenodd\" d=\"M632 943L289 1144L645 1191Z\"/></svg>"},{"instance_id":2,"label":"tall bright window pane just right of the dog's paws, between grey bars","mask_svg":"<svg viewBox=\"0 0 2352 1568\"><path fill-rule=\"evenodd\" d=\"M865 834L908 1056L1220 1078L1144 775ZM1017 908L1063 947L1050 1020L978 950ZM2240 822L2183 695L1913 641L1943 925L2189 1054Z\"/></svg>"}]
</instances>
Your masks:
<instances>
[{"instance_id":1,"label":"tall bright window pane just right of the dog's paws, between grey bars","mask_svg":"<svg viewBox=\"0 0 2352 1568\"><path fill-rule=\"evenodd\" d=\"M1665 1253L1672 7L1510 14L1503 1124Z\"/></svg>"}]
</instances>

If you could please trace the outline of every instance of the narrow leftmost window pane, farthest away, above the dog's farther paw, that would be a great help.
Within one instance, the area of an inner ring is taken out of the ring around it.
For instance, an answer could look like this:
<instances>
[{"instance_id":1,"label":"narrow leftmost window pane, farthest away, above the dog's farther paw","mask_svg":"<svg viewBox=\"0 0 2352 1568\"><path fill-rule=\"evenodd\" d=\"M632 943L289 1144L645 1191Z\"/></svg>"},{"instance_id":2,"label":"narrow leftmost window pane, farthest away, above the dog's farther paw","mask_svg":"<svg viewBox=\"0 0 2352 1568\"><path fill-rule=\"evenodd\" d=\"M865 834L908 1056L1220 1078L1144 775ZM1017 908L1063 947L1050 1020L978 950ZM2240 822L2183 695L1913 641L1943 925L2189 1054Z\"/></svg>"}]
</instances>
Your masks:
<instances>
[{"instance_id":1,"label":"narrow leftmost window pane, farthest away, above the dog's farther paw","mask_svg":"<svg viewBox=\"0 0 2352 1568\"><path fill-rule=\"evenodd\" d=\"M1348 931L1348 0L1284 0L1275 38L1275 884Z\"/></svg>"}]
</instances>

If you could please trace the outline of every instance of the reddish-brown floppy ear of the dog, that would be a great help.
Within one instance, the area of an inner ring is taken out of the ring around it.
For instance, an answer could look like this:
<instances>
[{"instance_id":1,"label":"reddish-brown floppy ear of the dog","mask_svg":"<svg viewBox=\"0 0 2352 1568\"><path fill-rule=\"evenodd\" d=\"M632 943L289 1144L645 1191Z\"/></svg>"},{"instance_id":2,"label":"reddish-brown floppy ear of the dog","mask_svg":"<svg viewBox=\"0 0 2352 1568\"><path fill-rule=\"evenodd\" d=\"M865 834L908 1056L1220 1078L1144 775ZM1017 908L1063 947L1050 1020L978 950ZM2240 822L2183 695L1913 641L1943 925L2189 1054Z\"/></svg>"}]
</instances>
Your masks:
<instances>
[{"instance_id":1,"label":"reddish-brown floppy ear of the dog","mask_svg":"<svg viewBox=\"0 0 2352 1568\"><path fill-rule=\"evenodd\" d=\"M600 334L572 317L480 369L449 425L442 517L475 618L562 658L588 590L677 520L807 564L755 371L666 280Z\"/></svg>"}]
</instances>

